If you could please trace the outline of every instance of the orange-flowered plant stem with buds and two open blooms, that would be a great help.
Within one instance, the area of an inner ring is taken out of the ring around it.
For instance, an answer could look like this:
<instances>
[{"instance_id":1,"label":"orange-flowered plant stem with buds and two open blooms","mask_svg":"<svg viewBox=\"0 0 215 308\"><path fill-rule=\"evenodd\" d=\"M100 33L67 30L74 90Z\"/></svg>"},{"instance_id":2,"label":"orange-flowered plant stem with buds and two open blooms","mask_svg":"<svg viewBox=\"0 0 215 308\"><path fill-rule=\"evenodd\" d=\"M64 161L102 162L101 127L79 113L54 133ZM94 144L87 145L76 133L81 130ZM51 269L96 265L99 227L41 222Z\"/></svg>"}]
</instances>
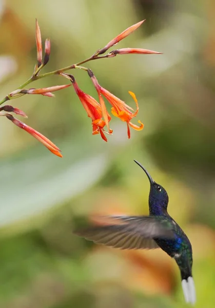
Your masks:
<instances>
[{"instance_id":1,"label":"orange-flowered plant stem with buds and two open blooms","mask_svg":"<svg viewBox=\"0 0 215 308\"><path fill-rule=\"evenodd\" d=\"M128 138L130 138L130 127L135 130L142 130L144 125L139 120L138 123L140 126L135 125L131 122L131 120L136 117L139 111L138 101L136 100L135 94L131 91L129 91L129 94L133 98L135 104L136 104L136 110L134 111L129 105L127 105L123 100L116 97L114 94L109 92L107 89L103 88L97 79L95 78L95 75L93 74L92 70L84 67L83 64L98 60L98 59L104 59L109 57L114 57L118 54L129 54L129 53L136 53L136 54L160 54L161 52L148 50L148 49L141 49L141 48L122 48L122 49L116 49L112 50L109 53L106 53L109 48L112 46L118 44L120 41L122 41L126 36L131 34L133 31L138 29L144 21L141 21L137 24L134 24L124 30L122 33L117 35L113 38L105 47L97 50L93 55L91 55L88 59L83 60L79 63L72 64L70 66L57 69L55 71L51 71L48 73L42 74L41 71L45 65L49 62L49 56L51 51L51 43L49 38L46 38L45 41L45 54L43 57L43 47L42 47L42 37L41 37L41 30L38 25L38 22L36 21L36 30L35 30L35 36L36 36L36 49L37 49L37 63L34 67L34 71L32 76L21 86L19 86L16 90L10 92L2 101L0 101L0 105L6 103L9 100L20 98L25 94L41 94L45 95L47 97L54 97L54 94L52 92L65 89L69 86L73 86L75 93L79 97L84 109L87 112L88 117L92 120L92 134L100 134L102 139L104 141L107 141L107 137L105 134L112 134L112 129L110 128L109 122L111 120L111 116L108 113L105 105L104 98L110 103L111 107L111 113L114 115L114 117L117 117L121 119L123 122L127 123L127 133ZM105 54L106 53L106 54ZM82 91L74 76L68 73L65 73L65 71L71 70L71 69L82 69L84 71L87 71L96 91L99 97L98 102L91 97L89 94ZM71 84L65 84L60 86L52 86L48 88L41 88L41 89L35 89L30 88L26 89L26 86L32 83L35 80L45 78L50 75L61 75L64 78L69 79ZM38 141L40 141L43 145L45 145L53 154L57 155L58 157L62 157L61 150L53 144L48 138L43 136L40 132L36 131L32 127L26 125L22 121L16 119L11 112L21 115L22 117L27 117L24 111L12 107L11 105L4 105L0 107L0 115L5 116L8 120L10 120L13 124L18 126L19 128L24 129L28 133L30 133L34 138L36 138Z\"/></svg>"}]
</instances>

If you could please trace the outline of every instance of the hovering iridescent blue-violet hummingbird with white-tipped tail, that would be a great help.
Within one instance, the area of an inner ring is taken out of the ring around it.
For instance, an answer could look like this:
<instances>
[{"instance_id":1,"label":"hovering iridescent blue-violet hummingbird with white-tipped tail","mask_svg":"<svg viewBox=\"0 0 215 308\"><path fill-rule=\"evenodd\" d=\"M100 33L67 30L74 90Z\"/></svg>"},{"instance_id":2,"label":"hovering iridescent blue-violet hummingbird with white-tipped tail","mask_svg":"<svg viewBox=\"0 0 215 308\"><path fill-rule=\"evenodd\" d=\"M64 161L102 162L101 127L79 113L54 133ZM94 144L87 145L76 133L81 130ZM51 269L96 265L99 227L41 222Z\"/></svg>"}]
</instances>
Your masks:
<instances>
[{"instance_id":1,"label":"hovering iridescent blue-violet hummingbird with white-tipped tail","mask_svg":"<svg viewBox=\"0 0 215 308\"><path fill-rule=\"evenodd\" d=\"M148 171L134 160L146 173L150 182L149 216L105 216L111 223L75 230L75 234L95 243L121 249L161 248L177 262L186 302L196 302L192 278L192 246L180 226L167 213L169 197L166 190L152 180Z\"/></svg>"}]
</instances>

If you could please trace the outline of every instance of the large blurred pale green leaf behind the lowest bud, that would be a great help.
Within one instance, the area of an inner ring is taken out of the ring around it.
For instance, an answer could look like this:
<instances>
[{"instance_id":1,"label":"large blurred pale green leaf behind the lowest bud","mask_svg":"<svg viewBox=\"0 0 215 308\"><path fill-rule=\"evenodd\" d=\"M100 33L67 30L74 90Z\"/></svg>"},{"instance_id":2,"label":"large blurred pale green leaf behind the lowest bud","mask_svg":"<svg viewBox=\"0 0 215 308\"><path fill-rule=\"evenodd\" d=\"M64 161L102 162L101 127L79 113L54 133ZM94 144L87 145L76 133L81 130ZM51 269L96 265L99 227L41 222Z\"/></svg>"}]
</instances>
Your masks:
<instances>
[{"instance_id":1,"label":"large blurred pale green leaf behind the lowest bud","mask_svg":"<svg viewBox=\"0 0 215 308\"><path fill-rule=\"evenodd\" d=\"M0 227L44 213L98 181L106 170L107 155L104 147L101 150L102 141L94 139L91 144L90 138L78 136L60 144L62 159L40 144L2 159ZM26 227L26 223L21 226Z\"/></svg>"}]
</instances>

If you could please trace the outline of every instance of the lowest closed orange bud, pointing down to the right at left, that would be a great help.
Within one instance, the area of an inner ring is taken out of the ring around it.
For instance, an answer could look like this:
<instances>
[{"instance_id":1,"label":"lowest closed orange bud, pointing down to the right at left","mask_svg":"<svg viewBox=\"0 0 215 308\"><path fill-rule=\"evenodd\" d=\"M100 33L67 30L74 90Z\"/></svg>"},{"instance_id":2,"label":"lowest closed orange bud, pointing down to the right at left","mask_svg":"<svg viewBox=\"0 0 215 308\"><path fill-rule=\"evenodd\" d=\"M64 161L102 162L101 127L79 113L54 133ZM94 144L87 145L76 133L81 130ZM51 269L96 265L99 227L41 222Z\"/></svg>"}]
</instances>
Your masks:
<instances>
[{"instance_id":1,"label":"lowest closed orange bud, pointing down to the right at left","mask_svg":"<svg viewBox=\"0 0 215 308\"><path fill-rule=\"evenodd\" d=\"M40 141L43 145L45 145L45 147L47 147L47 149L49 149L49 151L51 151L54 155L56 155L58 157L63 157L63 155L60 153L60 149L53 142L51 142L48 138L43 136L42 133L36 131L32 127L30 127L30 126L26 125L25 123L19 121L18 119L14 118L13 115L10 114L10 113L4 114L4 115L6 115L8 120L13 122L13 124L15 124L19 128L22 128L25 131L27 131L28 133L30 133L31 136L33 136L38 141Z\"/></svg>"}]
</instances>

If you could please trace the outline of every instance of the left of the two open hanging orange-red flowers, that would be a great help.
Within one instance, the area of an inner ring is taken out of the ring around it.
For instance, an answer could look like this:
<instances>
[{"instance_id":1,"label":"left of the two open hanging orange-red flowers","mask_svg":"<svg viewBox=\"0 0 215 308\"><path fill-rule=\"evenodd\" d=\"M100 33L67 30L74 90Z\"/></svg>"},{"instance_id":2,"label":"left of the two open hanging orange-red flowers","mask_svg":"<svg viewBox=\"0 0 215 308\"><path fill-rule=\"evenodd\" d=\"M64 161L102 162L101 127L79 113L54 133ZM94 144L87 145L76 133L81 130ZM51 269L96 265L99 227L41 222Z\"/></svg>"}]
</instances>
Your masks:
<instances>
[{"instance_id":1,"label":"left of the two open hanging orange-red flowers","mask_svg":"<svg viewBox=\"0 0 215 308\"><path fill-rule=\"evenodd\" d=\"M107 142L107 138L106 138L104 132L111 134L112 129L109 129L109 122L111 120L110 115L108 113L106 113L106 115L107 115L107 118L105 118L106 121L104 121L102 119L102 113L103 113L102 109L105 108L105 107L104 106L101 107L101 105L98 102L96 102L96 100L93 97L91 97L89 94L86 94L85 92L83 92L79 88L79 86L77 85L73 75L69 75L69 74L65 74L65 73L61 73L61 75L71 80L72 85L73 85L74 90L75 90L75 93L79 97L82 105L84 106L84 109L87 111L88 117L91 118L91 120L92 120L92 134L100 133L102 139ZM101 104L103 104L102 100L103 99L101 97L100 98ZM108 127L108 132L104 130L105 125L107 125L107 127Z\"/></svg>"}]
</instances>

